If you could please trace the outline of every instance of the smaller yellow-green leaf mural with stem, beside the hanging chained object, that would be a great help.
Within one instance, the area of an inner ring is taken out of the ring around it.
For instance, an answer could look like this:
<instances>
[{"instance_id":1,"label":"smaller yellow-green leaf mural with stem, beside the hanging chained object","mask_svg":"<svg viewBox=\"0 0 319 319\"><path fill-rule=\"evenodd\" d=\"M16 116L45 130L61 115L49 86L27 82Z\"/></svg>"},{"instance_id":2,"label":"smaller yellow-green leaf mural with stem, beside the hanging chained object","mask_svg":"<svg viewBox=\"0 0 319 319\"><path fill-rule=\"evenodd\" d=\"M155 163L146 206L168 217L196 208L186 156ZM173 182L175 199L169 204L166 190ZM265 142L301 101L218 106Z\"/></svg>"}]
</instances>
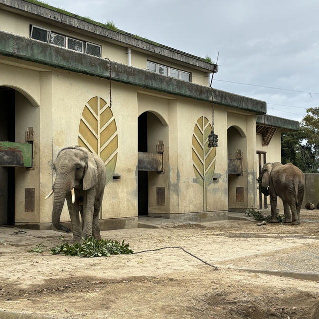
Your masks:
<instances>
[{"instance_id":1,"label":"smaller yellow-green leaf mural with stem, beside the hanging chained object","mask_svg":"<svg viewBox=\"0 0 319 319\"><path fill-rule=\"evenodd\" d=\"M211 183L215 171L216 148L208 147L211 130L211 124L202 116L195 124L192 139L193 168L198 184L203 187L203 211L207 211L207 186Z\"/></svg>"}]
</instances>

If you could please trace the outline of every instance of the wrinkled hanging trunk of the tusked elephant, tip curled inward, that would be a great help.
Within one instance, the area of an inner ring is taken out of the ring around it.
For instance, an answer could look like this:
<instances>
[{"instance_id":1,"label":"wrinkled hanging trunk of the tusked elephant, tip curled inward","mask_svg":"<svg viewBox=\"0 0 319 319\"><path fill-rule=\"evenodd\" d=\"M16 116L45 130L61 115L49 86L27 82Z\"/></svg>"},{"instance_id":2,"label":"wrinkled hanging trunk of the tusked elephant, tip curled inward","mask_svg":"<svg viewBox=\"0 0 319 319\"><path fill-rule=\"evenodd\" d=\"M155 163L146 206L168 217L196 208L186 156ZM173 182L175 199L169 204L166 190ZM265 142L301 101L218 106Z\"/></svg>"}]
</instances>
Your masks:
<instances>
[{"instance_id":1,"label":"wrinkled hanging trunk of the tusked elephant, tip curled inward","mask_svg":"<svg viewBox=\"0 0 319 319\"><path fill-rule=\"evenodd\" d=\"M54 228L63 230L67 233L69 233L71 229L60 224L60 217L66 194L70 191L69 187L70 186L68 186L65 181L61 180L58 176L56 177L53 185L54 199L52 208L52 225ZM73 188L74 185L71 185L71 187Z\"/></svg>"}]
</instances>

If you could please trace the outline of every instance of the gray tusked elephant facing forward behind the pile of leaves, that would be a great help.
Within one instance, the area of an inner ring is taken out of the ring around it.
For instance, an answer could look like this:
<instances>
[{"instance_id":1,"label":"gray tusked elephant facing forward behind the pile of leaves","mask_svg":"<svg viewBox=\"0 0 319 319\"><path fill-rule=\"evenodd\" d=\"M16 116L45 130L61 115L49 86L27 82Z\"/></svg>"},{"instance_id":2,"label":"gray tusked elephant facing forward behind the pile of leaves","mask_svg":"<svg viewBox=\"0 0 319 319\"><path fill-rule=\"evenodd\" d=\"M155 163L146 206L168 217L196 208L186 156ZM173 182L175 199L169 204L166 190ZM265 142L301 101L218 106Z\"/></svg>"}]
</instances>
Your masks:
<instances>
[{"instance_id":1,"label":"gray tusked elephant facing forward behind the pile of leaves","mask_svg":"<svg viewBox=\"0 0 319 319\"><path fill-rule=\"evenodd\" d=\"M56 178L52 190L54 194L52 224L54 228L70 232L71 229L60 224L60 216L66 199L71 217L73 240L80 242L81 237L93 236L101 239L99 212L106 183L103 160L79 146L62 149L53 168ZM82 227L80 216L82 217Z\"/></svg>"}]
</instances>

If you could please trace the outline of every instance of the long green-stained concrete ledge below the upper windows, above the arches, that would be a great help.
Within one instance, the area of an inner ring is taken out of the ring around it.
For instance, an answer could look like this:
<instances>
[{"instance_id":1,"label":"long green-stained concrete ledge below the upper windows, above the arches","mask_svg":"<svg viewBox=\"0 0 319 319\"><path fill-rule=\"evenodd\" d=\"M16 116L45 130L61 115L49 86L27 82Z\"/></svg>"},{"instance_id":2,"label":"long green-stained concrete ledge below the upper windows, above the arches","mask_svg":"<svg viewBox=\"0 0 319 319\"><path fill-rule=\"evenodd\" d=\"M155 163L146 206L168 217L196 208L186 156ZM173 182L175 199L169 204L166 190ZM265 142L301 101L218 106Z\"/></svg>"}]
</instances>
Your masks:
<instances>
[{"instance_id":1,"label":"long green-stained concrete ledge below the upper windows, above the arches","mask_svg":"<svg viewBox=\"0 0 319 319\"><path fill-rule=\"evenodd\" d=\"M178 80L3 31L0 31L0 55L104 79L110 79L111 74L113 81L205 102L212 101L213 92L215 104L256 114L266 113L266 102L264 101L211 89L207 86Z\"/></svg>"}]
</instances>

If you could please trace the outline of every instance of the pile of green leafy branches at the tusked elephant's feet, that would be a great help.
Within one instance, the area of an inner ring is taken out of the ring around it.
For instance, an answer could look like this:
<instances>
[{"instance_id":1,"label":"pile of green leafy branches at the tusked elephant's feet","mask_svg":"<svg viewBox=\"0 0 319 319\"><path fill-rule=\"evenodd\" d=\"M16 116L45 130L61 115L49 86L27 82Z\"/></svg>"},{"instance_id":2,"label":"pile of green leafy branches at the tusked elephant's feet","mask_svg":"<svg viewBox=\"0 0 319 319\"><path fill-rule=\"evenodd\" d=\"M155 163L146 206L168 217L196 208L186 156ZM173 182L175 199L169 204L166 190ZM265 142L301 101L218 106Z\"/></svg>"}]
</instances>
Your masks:
<instances>
[{"instance_id":1,"label":"pile of green leafy branches at the tusked elephant's feet","mask_svg":"<svg viewBox=\"0 0 319 319\"><path fill-rule=\"evenodd\" d=\"M62 239L64 239L62 237ZM94 237L82 238L82 243L64 242L62 245L51 248L50 253L52 255L64 254L66 256L82 256L82 257L102 257L119 254L133 254L133 250L129 248L129 244L126 244L124 240L118 242L111 239L96 240ZM30 253L42 253L42 244L37 244L36 248L28 250Z\"/></svg>"}]
</instances>

